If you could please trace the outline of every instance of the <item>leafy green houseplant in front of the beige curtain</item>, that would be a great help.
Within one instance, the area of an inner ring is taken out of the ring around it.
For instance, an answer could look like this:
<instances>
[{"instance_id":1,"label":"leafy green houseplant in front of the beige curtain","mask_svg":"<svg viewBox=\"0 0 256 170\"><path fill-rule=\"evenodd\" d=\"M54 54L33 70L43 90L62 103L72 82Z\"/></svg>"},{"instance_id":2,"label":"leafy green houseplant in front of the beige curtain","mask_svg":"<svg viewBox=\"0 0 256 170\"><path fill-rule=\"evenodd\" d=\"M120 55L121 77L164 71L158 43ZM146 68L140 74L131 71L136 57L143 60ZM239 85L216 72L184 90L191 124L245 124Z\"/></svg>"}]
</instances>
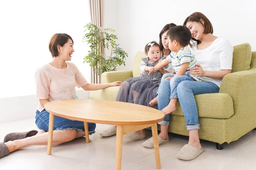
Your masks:
<instances>
[{"instance_id":1,"label":"leafy green houseplant in front of the beige curtain","mask_svg":"<svg viewBox=\"0 0 256 170\"><path fill-rule=\"evenodd\" d=\"M90 63L96 74L100 75L106 71L116 71L117 65L125 65L125 58L128 54L116 44L116 35L113 34L115 31L112 28L105 28L104 30L98 28L92 23L84 26L87 32L84 35L83 41L90 44L90 51L84 61ZM110 56L105 56L104 48L111 48Z\"/></svg>"}]
</instances>

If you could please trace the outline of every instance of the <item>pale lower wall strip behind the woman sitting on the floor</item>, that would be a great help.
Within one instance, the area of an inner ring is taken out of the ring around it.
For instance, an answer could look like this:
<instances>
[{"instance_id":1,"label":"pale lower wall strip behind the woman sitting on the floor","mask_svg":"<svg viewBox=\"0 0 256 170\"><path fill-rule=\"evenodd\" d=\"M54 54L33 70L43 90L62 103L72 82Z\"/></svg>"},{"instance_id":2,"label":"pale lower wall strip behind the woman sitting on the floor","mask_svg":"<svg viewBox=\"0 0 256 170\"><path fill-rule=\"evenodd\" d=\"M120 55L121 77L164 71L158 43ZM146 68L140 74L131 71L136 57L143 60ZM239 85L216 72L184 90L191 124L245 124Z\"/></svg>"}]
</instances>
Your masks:
<instances>
[{"instance_id":1,"label":"pale lower wall strip behind the woman sitting on the floor","mask_svg":"<svg viewBox=\"0 0 256 170\"><path fill-rule=\"evenodd\" d=\"M77 90L79 99L89 99L90 92ZM0 123L34 117L38 106L35 95L17 96L0 99Z\"/></svg>"}]
</instances>

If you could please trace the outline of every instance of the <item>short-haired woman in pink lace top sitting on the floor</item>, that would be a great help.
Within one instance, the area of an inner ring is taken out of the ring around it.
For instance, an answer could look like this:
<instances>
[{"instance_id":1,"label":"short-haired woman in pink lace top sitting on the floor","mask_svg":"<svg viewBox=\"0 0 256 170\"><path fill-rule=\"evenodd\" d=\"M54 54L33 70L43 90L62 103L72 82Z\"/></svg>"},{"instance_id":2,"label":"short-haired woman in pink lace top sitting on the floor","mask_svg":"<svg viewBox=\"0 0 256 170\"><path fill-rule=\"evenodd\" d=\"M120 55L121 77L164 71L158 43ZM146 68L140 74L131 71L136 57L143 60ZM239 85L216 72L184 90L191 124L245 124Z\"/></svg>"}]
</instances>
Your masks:
<instances>
[{"instance_id":1,"label":"short-haired woman in pink lace top sitting on the floor","mask_svg":"<svg viewBox=\"0 0 256 170\"><path fill-rule=\"evenodd\" d=\"M54 34L49 42L52 62L42 66L35 73L37 107L35 123L41 131L9 133L0 143L0 158L14 150L28 145L47 145L49 112L44 109L47 102L62 99L76 99L76 86L85 91L94 91L122 82L91 84L86 81L76 65L71 62L74 52L73 40L67 34ZM89 133L95 133L95 123L88 123ZM55 116L52 144L61 144L84 136L84 122L73 121Z\"/></svg>"}]
</instances>

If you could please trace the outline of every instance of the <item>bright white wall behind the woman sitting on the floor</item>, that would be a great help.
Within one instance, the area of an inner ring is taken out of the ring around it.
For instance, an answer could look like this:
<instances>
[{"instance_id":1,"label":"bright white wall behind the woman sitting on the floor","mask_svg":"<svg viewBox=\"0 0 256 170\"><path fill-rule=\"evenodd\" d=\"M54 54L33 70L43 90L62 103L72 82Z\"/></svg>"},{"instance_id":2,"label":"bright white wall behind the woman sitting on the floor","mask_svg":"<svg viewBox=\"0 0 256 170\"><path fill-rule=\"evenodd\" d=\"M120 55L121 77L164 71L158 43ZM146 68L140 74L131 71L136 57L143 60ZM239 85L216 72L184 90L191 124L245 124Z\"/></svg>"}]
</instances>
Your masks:
<instances>
[{"instance_id":1,"label":"bright white wall behind the woman sitting on the floor","mask_svg":"<svg viewBox=\"0 0 256 170\"><path fill-rule=\"evenodd\" d=\"M55 33L73 38L71 62L90 81L90 67L83 64L89 46L82 42L90 22L88 0L1 0L0 16L0 122L35 116L34 74L52 60L48 43ZM89 99L84 90L76 94Z\"/></svg>"}]
</instances>

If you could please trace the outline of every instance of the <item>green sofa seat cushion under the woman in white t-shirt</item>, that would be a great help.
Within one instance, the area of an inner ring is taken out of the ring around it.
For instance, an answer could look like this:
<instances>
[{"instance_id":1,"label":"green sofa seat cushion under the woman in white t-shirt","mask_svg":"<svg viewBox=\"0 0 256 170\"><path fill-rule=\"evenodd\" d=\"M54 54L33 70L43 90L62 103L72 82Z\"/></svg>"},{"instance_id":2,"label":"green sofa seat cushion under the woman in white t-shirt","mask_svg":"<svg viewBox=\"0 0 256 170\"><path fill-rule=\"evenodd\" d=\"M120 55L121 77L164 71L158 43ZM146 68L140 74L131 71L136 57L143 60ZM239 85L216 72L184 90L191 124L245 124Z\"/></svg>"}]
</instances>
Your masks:
<instances>
[{"instance_id":1,"label":"green sofa seat cushion under the woman in white t-shirt","mask_svg":"<svg viewBox=\"0 0 256 170\"><path fill-rule=\"evenodd\" d=\"M195 95L198 106L198 117L228 119L234 114L233 100L229 94L213 93ZM183 116L180 103L173 115Z\"/></svg>"}]
</instances>

